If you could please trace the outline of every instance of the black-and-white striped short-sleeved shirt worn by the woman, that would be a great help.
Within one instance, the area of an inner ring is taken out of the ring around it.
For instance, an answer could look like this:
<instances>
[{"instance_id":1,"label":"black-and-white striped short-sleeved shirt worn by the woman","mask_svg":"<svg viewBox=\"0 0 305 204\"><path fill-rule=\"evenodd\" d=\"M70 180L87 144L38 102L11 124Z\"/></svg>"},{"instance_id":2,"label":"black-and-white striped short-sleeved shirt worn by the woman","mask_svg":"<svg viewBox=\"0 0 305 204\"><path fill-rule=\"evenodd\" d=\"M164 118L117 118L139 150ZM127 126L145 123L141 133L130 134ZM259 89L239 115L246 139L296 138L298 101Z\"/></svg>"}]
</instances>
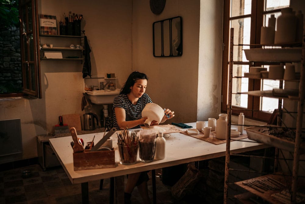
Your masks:
<instances>
[{"instance_id":1,"label":"black-and-white striped short-sleeved shirt worn by the woman","mask_svg":"<svg viewBox=\"0 0 305 204\"><path fill-rule=\"evenodd\" d=\"M147 103L152 103L149 95L144 93L141 98L139 98L136 105L132 104L131 101L128 99L126 94L120 94L114 97L113 99L113 127L120 130L117 124L117 117L115 115L114 108L120 107L125 110L126 119L130 116L131 120L138 120L142 118L142 110L144 109ZM127 120L126 120L127 121Z\"/></svg>"}]
</instances>

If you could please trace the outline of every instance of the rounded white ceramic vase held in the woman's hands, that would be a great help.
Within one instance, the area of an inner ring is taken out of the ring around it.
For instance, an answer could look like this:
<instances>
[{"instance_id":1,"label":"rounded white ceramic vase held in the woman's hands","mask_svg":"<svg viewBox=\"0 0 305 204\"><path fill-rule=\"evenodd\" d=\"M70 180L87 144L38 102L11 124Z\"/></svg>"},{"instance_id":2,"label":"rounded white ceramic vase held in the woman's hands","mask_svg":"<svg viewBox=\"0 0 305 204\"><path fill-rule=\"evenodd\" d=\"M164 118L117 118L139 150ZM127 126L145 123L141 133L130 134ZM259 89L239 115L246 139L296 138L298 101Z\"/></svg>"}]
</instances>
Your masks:
<instances>
[{"instance_id":1,"label":"rounded white ceramic vase held in the woman's hands","mask_svg":"<svg viewBox=\"0 0 305 204\"><path fill-rule=\"evenodd\" d=\"M164 116L163 109L156 103L147 103L144 109L142 110L142 117L147 117L144 125L149 127L152 121L161 122Z\"/></svg>"}]
</instances>

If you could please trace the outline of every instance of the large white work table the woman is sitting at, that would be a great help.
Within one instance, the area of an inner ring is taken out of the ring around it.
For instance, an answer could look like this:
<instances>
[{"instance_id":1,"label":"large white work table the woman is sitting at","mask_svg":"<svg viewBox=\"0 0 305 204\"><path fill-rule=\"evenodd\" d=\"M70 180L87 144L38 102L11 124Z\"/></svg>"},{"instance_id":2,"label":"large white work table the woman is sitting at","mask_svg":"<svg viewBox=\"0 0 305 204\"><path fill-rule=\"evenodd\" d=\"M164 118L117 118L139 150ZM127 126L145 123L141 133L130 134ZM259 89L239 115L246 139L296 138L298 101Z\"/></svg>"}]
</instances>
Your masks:
<instances>
[{"instance_id":1,"label":"large white work table the woman is sitting at","mask_svg":"<svg viewBox=\"0 0 305 204\"><path fill-rule=\"evenodd\" d=\"M187 123L196 128L196 123ZM236 127L232 125L232 127ZM186 130L186 129L185 129ZM246 132L244 132L246 133ZM97 143L104 133L92 133L79 135L84 140L84 144L91 142L95 135L95 143ZM59 159L63 169L68 175L72 184L85 183L93 180L106 179L110 177L122 176L135 172L160 169L193 161L201 161L211 158L225 156L226 143L215 145L182 133L170 133L170 137L166 139L165 159L154 160L150 163L143 163L137 158L134 165L121 165L119 163L119 152L117 150L117 134L112 135L113 147L115 148L115 168L91 169L74 171L73 166L73 149L70 142L73 141L72 136L49 139L50 145ZM234 138L232 138L234 139ZM249 139L242 139L231 142L231 153L237 154L246 151L258 150L268 147L267 145L255 142Z\"/></svg>"}]
</instances>

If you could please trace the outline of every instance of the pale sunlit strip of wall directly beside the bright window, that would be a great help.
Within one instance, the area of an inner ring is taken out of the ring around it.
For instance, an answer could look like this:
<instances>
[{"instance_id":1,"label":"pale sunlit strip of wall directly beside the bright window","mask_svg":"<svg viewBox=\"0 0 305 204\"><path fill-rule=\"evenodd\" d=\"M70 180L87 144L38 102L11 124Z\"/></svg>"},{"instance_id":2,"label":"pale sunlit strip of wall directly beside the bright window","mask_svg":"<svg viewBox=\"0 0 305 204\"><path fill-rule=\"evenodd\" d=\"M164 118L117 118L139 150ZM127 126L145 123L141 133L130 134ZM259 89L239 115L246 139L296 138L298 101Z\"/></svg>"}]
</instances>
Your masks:
<instances>
[{"instance_id":1,"label":"pale sunlit strip of wall directly beside the bright window","mask_svg":"<svg viewBox=\"0 0 305 204\"><path fill-rule=\"evenodd\" d=\"M218 118L221 104L223 1L200 1L197 120Z\"/></svg>"}]
</instances>

